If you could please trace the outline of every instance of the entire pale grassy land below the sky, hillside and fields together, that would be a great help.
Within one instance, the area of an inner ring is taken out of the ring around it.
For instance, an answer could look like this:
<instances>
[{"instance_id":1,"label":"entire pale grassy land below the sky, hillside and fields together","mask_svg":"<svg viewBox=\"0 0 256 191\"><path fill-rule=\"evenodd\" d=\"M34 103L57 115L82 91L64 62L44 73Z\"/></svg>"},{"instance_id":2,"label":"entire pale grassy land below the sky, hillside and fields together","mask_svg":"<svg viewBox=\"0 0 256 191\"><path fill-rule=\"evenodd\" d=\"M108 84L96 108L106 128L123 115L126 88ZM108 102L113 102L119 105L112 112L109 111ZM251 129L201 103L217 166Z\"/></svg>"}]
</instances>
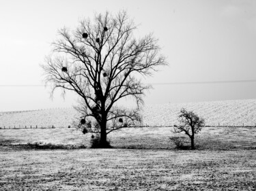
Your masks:
<instances>
[{"instance_id":1,"label":"entire pale grassy land below the sky, hillside and fields together","mask_svg":"<svg viewBox=\"0 0 256 191\"><path fill-rule=\"evenodd\" d=\"M212 125L195 151L169 139L185 136L167 127L182 107ZM113 132L113 149L93 150L90 134L67 128L74 109L0 113L0 190L256 190L256 99L145 105L142 114L150 126Z\"/></svg>"}]
</instances>

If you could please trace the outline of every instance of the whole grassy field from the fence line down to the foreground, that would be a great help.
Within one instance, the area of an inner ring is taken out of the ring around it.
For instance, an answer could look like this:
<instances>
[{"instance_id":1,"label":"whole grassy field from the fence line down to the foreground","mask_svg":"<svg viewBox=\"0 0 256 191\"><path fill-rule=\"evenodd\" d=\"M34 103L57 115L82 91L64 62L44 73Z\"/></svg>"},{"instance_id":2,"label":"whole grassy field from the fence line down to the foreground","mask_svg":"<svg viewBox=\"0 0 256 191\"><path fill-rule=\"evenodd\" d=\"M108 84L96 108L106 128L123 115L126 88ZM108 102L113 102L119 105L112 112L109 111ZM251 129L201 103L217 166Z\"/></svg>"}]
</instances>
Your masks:
<instances>
[{"instance_id":1,"label":"whole grassy field from the fence line down to the foreground","mask_svg":"<svg viewBox=\"0 0 256 191\"><path fill-rule=\"evenodd\" d=\"M113 149L35 150L24 144L89 146L70 128L1 129L0 190L255 190L256 128L205 127L198 150L175 150L171 127L110 134Z\"/></svg>"}]
</instances>

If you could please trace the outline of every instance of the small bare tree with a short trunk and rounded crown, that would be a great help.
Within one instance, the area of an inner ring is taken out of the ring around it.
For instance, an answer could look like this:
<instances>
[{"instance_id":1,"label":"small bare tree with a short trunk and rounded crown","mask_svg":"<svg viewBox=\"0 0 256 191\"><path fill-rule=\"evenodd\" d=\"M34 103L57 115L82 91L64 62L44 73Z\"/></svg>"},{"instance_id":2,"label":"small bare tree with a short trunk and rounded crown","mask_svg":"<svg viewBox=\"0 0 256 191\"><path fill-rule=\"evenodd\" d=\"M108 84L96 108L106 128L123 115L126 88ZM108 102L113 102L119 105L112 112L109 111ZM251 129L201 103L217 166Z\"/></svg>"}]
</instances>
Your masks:
<instances>
[{"instance_id":1,"label":"small bare tree with a short trunk and rounded crown","mask_svg":"<svg viewBox=\"0 0 256 191\"><path fill-rule=\"evenodd\" d=\"M201 131L201 128L205 126L205 122L202 118L199 118L193 111L186 111L181 109L178 118L180 125L174 125L173 133L184 132L191 140L191 149L195 150L195 134Z\"/></svg>"}]
</instances>

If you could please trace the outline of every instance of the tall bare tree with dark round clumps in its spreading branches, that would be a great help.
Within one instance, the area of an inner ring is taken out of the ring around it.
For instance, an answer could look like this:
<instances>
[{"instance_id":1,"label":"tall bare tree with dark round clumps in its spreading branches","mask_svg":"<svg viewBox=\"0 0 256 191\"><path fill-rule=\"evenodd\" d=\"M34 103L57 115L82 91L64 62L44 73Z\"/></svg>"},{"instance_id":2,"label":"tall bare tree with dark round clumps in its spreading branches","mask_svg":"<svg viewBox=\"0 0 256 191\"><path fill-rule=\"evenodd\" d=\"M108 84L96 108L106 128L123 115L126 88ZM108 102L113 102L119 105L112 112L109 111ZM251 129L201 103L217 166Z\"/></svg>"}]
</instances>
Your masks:
<instances>
[{"instance_id":1,"label":"tall bare tree with dark round clumps in its spreading branches","mask_svg":"<svg viewBox=\"0 0 256 191\"><path fill-rule=\"evenodd\" d=\"M141 83L137 74L152 75L159 65L167 65L152 34L136 39L137 29L126 12L112 16L96 14L94 20L81 20L75 31L59 30L53 53L42 65L46 84L53 91L61 88L79 95L79 126L83 133L99 133L100 147L106 135L141 122L139 108L150 86ZM133 97L137 109L117 107L119 100Z\"/></svg>"}]
</instances>

